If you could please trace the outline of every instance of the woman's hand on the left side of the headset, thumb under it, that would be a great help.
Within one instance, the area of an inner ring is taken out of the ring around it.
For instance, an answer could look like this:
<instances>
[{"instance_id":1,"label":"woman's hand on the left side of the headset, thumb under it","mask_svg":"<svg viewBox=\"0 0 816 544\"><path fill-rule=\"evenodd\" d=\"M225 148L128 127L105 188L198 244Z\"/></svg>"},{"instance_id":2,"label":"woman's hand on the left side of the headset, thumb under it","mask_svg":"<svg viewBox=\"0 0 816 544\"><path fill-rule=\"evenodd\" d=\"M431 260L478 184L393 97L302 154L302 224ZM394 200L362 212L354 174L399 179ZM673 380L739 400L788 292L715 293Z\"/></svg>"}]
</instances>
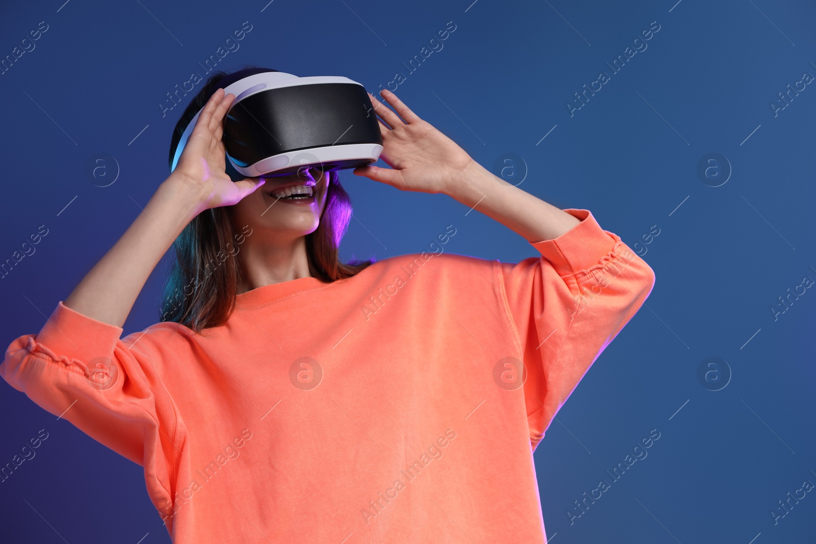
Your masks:
<instances>
[{"instance_id":1,"label":"woman's hand on the left side of the headset, thumb under it","mask_svg":"<svg viewBox=\"0 0 816 544\"><path fill-rule=\"evenodd\" d=\"M226 150L221 137L224 115L233 100L235 95L224 95L223 88L217 89L207 100L171 173L171 177L184 179L200 196L199 211L232 206L264 184L263 178L233 181L226 174Z\"/></svg>"}]
</instances>

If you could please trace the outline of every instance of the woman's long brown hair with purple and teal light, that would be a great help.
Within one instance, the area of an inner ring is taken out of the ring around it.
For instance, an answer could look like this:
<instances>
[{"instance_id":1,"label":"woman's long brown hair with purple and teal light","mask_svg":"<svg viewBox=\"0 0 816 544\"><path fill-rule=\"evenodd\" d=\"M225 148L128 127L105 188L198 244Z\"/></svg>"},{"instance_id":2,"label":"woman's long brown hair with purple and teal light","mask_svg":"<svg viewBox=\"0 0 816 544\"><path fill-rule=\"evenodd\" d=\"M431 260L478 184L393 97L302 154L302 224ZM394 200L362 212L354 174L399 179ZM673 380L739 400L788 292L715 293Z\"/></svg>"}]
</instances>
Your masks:
<instances>
[{"instance_id":1,"label":"woman's long brown hair with purple and teal light","mask_svg":"<svg viewBox=\"0 0 816 544\"><path fill-rule=\"evenodd\" d=\"M207 79L175 124L169 167L172 167L184 129L212 93L225 86L220 83L260 71L277 70L249 66L233 73L215 72ZM314 232L306 235L309 273L321 281L354 276L375 262L375 259L340 261L338 247L351 220L352 205L348 192L340 185L337 171L331 170L328 174L326 206L320 223ZM237 283L242 279L236 255L251 231L246 232L245 228L235 232L227 208L220 206L202 211L173 242L175 263L164 287L161 321L174 321L201 334L202 329L222 325L235 311Z\"/></svg>"}]
</instances>

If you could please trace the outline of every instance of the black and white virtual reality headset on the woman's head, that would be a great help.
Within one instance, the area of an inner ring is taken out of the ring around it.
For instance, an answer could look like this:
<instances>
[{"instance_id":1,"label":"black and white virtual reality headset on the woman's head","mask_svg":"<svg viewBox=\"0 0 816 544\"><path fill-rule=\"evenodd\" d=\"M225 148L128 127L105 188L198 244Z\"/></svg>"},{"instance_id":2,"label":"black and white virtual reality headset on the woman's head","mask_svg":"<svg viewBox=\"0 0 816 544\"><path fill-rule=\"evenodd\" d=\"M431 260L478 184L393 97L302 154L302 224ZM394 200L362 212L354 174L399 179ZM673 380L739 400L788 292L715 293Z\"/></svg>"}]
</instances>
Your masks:
<instances>
[{"instance_id":1,"label":"black and white virtual reality headset on the woman's head","mask_svg":"<svg viewBox=\"0 0 816 544\"><path fill-rule=\"evenodd\" d=\"M222 138L226 173L233 181L289 175L304 168L368 166L383 150L366 89L348 77L297 77L271 69L246 69L228 75L219 87L225 95L235 95L224 117ZM201 110L184 129L171 171L200 114Z\"/></svg>"}]
</instances>

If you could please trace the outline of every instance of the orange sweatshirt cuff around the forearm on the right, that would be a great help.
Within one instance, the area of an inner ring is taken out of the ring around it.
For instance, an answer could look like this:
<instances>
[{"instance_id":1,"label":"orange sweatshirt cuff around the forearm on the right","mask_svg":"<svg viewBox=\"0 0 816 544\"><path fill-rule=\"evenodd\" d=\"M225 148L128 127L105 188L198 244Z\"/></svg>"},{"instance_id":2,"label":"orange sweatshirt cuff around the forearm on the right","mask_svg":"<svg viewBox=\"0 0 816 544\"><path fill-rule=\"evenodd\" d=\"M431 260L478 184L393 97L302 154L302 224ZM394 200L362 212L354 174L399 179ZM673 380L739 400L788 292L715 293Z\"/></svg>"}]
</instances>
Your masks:
<instances>
[{"instance_id":1,"label":"orange sweatshirt cuff around the forearm on the right","mask_svg":"<svg viewBox=\"0 0 816 544\"><path fill-rule=\"evenodd\" d=\"M552 240L531 241L556 270L559 276L570 276L598 264L620 241L612 232L605 231L589 210L564 210L581 223Z\"/></svg>"}]
</instances>

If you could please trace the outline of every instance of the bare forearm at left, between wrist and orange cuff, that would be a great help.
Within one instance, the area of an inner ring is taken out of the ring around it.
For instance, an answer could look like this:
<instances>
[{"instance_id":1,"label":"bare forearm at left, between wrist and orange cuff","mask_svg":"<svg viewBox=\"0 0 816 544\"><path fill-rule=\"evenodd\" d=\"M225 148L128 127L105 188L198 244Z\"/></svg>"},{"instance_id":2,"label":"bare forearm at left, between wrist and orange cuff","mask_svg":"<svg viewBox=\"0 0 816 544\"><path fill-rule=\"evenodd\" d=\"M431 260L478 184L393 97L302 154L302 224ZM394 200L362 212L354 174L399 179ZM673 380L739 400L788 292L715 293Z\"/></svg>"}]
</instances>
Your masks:
<instances>
[{"instance_id":1,"label":"bare forearm at left, between wrist and orange cuff","mask_svg":"<svg viewBox=\"0 0 816 544\"><path fill-rule=\"evenodd\" d=\"M171 175L64 305L121 327L153 268L200 208L192 184Z\"/></svg>"}]
</instances>

